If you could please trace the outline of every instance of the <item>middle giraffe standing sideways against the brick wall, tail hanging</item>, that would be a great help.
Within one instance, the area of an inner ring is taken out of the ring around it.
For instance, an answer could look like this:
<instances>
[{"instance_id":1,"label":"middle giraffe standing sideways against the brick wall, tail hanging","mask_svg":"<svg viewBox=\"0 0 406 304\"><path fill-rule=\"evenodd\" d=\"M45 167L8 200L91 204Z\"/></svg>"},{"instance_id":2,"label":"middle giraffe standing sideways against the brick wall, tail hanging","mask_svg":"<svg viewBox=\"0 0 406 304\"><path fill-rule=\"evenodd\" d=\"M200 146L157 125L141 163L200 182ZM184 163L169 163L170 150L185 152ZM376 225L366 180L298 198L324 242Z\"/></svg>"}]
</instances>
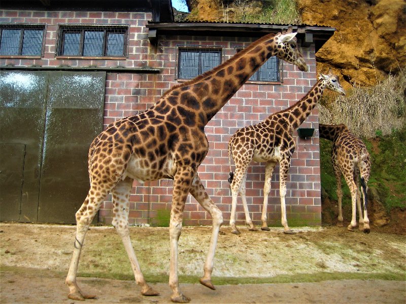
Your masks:
<instances>
[{"instance_id":1,"label":"middle giraffe standing sideways against the brick wall, tail hanging","mask_svg":"<svg viewBox=\"0 0 406 304\"><path fill-rule=\"evenodd\" d=\"M266 213L268 195L270 192L270 180L275 166L279 162L279 192L281 197L282 225L284 226L285 234L293 234L289 229L286 220L285 206L286 180L290 167L290 160L296 147L292 132L310 115L325 88L345 95L345 91L340 85L339 78L336 75L333 75L330 70L328 75L320 74L320 78L313 88L306 96L294 105L286 110L270 115L259 124L241 128L231 136L228 142L228 157L230 164L231 157L235 164L235 175L231 170L230 178L228 179L231 183L230 187L232 192L230 216L231 233L240 234L235 226L235 212L239 193L243 201L246 223L250 226L249 230L257 231L255 225L252 223L245 197L247 169L251 161L254 160L254 162L266 162L261 229L269 231L266 222Z\"/></svg>"}]
</instances>

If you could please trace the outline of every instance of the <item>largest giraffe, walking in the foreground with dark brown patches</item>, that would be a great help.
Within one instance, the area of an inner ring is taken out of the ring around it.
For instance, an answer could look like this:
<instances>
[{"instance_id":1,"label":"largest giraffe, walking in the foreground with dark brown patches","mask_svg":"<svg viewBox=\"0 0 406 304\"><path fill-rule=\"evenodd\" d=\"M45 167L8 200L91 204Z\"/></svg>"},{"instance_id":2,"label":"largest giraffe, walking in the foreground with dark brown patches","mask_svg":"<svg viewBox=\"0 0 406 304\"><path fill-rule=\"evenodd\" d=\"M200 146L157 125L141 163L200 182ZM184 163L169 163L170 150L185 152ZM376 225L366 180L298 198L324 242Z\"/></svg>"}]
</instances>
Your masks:
<instances>
[{"instance_id":1,"label":"largest giraffe, walking in the foreground with dark brown patches","mask_svg":"<svg viewBox=\"0 0 406 304\"><path fill-rule=\"evenodd\" d=\"M145 112L110 124L93 140L88 158L90 189L76 213L76 239L66 278L70 298L83 300L94 297L80 290L76 276L85 234L109 192L114 201L112 224L122 238L141 293L158 294L146 283L129 238L128 199L134 179L141 182L161 178L174 180L170 217L171 300L190 300L179 288L177 273L178 240L188 193L213 218L212 236L200 283L215 289L211 273L223 217L197 175L197 167L209 150L204 127L270 56L278 56L297 65L300 70L307 70L295 35L290 30L286 34L263 36L211 71L174 86Z\"/></svg>"}]
</instances>

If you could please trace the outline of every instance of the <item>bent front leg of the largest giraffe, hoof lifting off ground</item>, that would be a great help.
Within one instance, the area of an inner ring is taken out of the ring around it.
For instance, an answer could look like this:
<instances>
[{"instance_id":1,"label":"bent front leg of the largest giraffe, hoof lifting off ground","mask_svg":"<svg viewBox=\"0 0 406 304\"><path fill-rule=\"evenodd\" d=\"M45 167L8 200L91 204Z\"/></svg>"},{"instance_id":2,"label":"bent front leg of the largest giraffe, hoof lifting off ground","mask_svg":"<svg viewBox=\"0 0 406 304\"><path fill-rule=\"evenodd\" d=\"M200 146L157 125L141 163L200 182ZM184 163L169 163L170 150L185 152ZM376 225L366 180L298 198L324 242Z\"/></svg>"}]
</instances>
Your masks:
<instances>
[{"instance_id":1,"label":"bent front leg of the largest giraffe, hoof lifting off ground","mask_svg":"<svg viewBox=\"0 0 406 304\"><path fill-rule=\"evenodd\" d=\"M217 239L220 231L220 226L223 223L223 215L219 208L213 203L207 194L205 187L201 184L200 178L196 174L193 180L192 187L190 188L190 194L196 199L196 201L210 213L213 219L212 237L210 239L209 251L207 254L204 276L200 278L200 283L209 287L210 289L216 289L212 283L212 271L214 264L214 254L217 246Z\"/></svg>"}]
</instances>

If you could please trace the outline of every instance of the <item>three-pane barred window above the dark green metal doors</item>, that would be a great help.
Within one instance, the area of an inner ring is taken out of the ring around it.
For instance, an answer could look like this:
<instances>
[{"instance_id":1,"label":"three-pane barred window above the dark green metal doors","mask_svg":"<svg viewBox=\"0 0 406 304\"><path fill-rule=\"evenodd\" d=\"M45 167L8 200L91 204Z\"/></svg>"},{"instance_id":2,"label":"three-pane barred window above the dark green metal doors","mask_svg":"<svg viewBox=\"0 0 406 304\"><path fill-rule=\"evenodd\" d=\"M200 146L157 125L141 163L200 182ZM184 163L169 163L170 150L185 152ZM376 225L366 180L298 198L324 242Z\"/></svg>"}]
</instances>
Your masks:
<instances>
[{"instance_id":1,"label":"three-pane barred window above the dark green metal doors","mask_svg":"<svg viewBox=\"0 0 406 304\"><path fill-rule=\"evenodd\" d=\"M128 26L60 25L59 56L125 57Z\"/></svg>"}]
</instances>

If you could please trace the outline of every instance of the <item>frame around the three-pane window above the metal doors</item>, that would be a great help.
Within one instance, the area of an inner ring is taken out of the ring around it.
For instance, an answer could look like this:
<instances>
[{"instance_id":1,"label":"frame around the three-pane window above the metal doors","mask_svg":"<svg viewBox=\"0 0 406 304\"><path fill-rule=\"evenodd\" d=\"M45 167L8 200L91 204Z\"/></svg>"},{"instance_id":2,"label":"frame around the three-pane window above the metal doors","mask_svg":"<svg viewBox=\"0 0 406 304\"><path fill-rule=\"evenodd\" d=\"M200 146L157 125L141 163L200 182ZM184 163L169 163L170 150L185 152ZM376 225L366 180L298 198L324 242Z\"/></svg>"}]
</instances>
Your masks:
<instances>
[{"instance_id":1,"label":"frame around the three-pane window above the metal doors","mask_svg":"<svg viewBox=\"0 0 406 304\"><path fill-rule=\"evenodd\" d=\"M57 36L57 45L55 48L55 57L56 58L89 58L89 59L127 59L128 58L128 45L129 45L129 24L70 24L63 23L58 24L58 36ZM117 32L119 30L120 32ZM85 42L85 32L91 31L103 31L103 54L105 55L96 55L96 56L84 56L84 42ZM121 32L122 31L122 32ZM64 55L64 34L65 33L79 33L79 55ZM107 55L108 52L108 35L110 33L122 33L123 37L123 55Z\"/></svg>"}]
</instances>

